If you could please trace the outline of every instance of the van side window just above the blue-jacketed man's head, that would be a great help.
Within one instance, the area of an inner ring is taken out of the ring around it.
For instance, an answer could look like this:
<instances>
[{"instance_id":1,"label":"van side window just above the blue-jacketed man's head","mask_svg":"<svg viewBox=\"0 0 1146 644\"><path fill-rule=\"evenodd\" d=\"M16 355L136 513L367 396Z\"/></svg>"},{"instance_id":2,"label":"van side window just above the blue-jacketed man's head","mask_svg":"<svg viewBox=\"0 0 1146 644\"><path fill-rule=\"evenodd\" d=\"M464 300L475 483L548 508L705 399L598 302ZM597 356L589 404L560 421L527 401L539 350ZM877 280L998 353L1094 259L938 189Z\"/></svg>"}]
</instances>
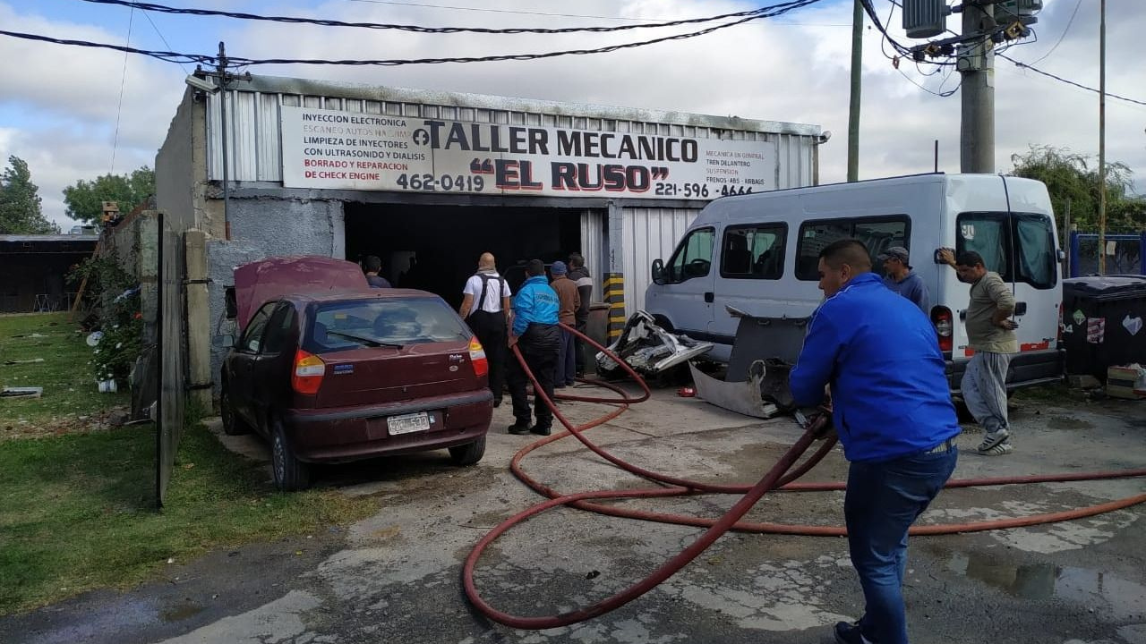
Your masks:
<instances>
[{"instance_id":1,"label":"van side window just above the blue-jacketed man's head","mask_svg":"<svg viewBox=\"0 0 1146 644\"><path fill-rule=\"evenodd\" d=\"M863 219L831 219L804 221L795 249L795 277L814 282L819 280L819 251L829 244L846 238L859 239L871 253L872 272L884 275L879 253L892 246L911 250L911 220L903 214Z\"/></svg>"}]
</instances>

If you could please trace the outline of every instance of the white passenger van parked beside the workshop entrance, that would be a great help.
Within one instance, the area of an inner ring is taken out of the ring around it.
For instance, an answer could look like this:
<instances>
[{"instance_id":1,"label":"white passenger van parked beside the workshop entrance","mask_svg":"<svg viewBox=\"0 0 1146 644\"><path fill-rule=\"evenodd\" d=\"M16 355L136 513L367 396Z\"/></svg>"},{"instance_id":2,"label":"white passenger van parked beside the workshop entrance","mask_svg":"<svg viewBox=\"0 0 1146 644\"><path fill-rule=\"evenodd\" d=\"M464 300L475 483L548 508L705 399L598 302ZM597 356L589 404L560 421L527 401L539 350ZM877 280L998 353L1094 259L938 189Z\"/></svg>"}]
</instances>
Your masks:
<instances>
[{"instance_id":1,"label":"white passenger van parked beside the workshop entrance","mask_svg":"<svg viewBox=\"0 0 1146 644\"><path fill-rule=\"evenodd\" d=\"M668 261L652 264L645 311L669 330L715 343L727 362L739 323L727 306L761 317L808 317L823 299L819 251L845 237L863 241L872 267L904 246L927 285L952 391L972 351L961 322L968 285L937 264L935 251L975 251L1011 284L1021 353L1010 387L1060 378L1062 283L1046 187L995 174L925 174L724 197L709 203Z\"/></svg>"}]
</instances>

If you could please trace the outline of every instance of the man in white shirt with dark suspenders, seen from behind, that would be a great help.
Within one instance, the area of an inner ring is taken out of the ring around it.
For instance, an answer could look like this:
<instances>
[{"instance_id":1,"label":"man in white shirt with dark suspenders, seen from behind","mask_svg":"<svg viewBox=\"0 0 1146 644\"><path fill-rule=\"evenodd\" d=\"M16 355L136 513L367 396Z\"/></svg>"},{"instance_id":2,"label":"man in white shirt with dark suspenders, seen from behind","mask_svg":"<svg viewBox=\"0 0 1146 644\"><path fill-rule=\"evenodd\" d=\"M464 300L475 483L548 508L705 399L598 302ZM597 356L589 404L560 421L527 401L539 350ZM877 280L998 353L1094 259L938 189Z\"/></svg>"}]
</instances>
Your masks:
<instances>
[{"instance_id":1,"label":"man in white shirt with dark suspenders, seen from behind","mask_svg":"<svg viewBox=\"0 0 1146 644\"><path fill-rule=\"evenodd\" d=\"M494 407L501 405L505 383L505 354L509 351L507 329L512 311L509 298L512 294L505 278L497 274L493 253L481 253L478 258L478 272L465 281L462 307L457 311L486 350Z\"/></svg>"}]
</instances>

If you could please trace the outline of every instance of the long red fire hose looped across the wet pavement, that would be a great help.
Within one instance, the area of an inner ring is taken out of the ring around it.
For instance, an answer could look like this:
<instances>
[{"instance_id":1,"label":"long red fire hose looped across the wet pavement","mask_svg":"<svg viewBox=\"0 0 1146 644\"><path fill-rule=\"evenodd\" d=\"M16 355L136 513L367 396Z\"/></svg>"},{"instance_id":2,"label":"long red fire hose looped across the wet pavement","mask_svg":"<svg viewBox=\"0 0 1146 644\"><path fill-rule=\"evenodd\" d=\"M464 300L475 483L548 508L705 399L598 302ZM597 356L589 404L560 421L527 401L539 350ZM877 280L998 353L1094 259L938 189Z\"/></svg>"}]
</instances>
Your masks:
<instances>
[{"instance_id":1,"label":"long red fire hose looped across the wet pavement","mask_svg":"<svg viewBox=\"0 0 1146 644\"><path fill-rule=\"evenodd\" d=\"M677 571L683 568L692 559L705 551L709 545L713 544L717 539L720 539L729 529L738 532L752 532L752 533L770 533L770 534L793 534L793 535L809 535L809 536L843 536L847 534L847 529L841 526L813 526L813 525L788 525L788 524L772 524L772 523L739 523L740 518L744 517L753 505L768 492L779 490L779 492L823 492L823 490L841 490L845 488L842 482L824 482L824 484L801 484L794 482L801 476L807 473L809 470L816 466L821 460L823 460L834 447L835 437L832 435L823 441L819 449L816 450L809 458L803 463L795 466L796 462L803 455L803 453L811 446L816 440L816 434L823 430L823 424L826 423L827 417L821 416L818 419L818 425L814 423L811 426L807 427L803 435L792 447L780 456L779 461L764 474L759 482L753 486L746 485L714 485L706 484L701 481L691 481L688 479L682 479L677 477L670 477L667 474L661 474L646 470L644 468L638 468L626 463L625 461L613 456L609 451L602 449L601 447L594 445L589 439L587 439L582 432L595 427L597 425L604 424L621 413L623 413L629 405L642 402L649 399L650 391L649 386L641 378L641 376L634 371L623 360L614 355L607 348L601 346L594 341L588 336L571 329L564 324L562 328L575 333L581 339L588 341L590 345L603 351L605 355L610 356L631 377L637 385L641 386L642 394L637 398L630 398L625 393L619 386L609 383L595 383L607 387L615 393L619 398L598 398L598 396L576 396L576 395L560 395L563 400L573 400L581 402L601 402L617 405L617 409L610 411L605 416L584 423L582 425L574 426L565 416L560 413L554 401L545 394L534 377L533 372L529 371L528 367L525 364L525 360L521 358L518 347L513 347L513 355L520 362L525 372L529 376L533 382L534 390L537 395L544 401L544 403L552 410L554 416L560 421L562 425L566 427L566 432L554 434L551 437L544 438L542 440L535 441L528 445L517 454L513 455L513 460L510 463L510 469L513 474L517 476L523 482L536 490L537 493L548 496L549 501L539 503L528 510L518 512L509 519L502 521L499 526L489 531L480 541L473 547L469 557L465 558L465 565L462 568L462 583L465 588L465 595L479 611L486 614L488 618L496 622L510 626L513 628L521 629L545 629L545 628L557 628L562 626L568 626L572 623L578 623L586 621L588 619L603 615L614 608L618 608L633 599L644 595L649 590L652 590L660 582L670 578ZM602 458L613 463L618 468L636 474L638 477L649 479L654 482L664 484L672 487L658 487L647 489L626 489L626 490L602 490L602 492L582 492L576 494L563 494L557 492L545 485L540 484L529 477L521 469L521 460L542 446L549 445L550 442L560 440L568 435L575 437L580 440L587 448L592 450L595 454ZM791 472L790 472L791 470ZM990 486L990 485L1015 485L1015 484L1034 484L1034 482L1060 482L1060 481L1083 481L1083 480L1100 480L1100 479L1121 479L1121 478L1133 478L1146 476L1146 469L1137 470L1122 470L1113 472L1088 472L1088 473L1072 473L1072 474L1042 474L1031 477L1002 477L991 479L956 479L948 481L945 487L978 487L978 486ZM615 505L606 505L602 503L594 503L594 501L606 500L606 498L652 498L652 497L668 497L668 496L684 496L693 494L741 494L744 495L739 501L736 502L732 508L724 513L723 517L719 519L706 519L701 517L691 517L685 515L672 515L662 512L649 512L643 510L629 510L625 508L619 508ZM1078 508L1075 510L1068 510L1063 512L1050 512L1045 515L1034 515L1029 517L1020 517L1012 519L996 519L990 521L978 521L968 524L943 524L943 525L926 525L926 526L912 526L911 534L955 534L955 533L966 533L966 532L980 532L989 529L1005 529L1023 526L1033 526L1039 524L1050 524L1057 521L1066 521L1072 519L1080 519L1084 517L1091 517L1094 515L1100 515L1104 512L1110 512L1114 510L1121 510L1123 508L1129 508L1131 505L1146 502L1146 494L1139 494L1136 496L1129 496L1117 501L1112 501L1109 503L1101 503L1098 505L1090 505L1086 508ZM673 557L647 578L641 580L634 586L629 587L607 599L598 602L586 608L563 613L559 615L547 615L547 616L518 616L511 615L509 613L499 611L481 598L478 592L477 586L473 582L473 571L477 567L478 559L480 559L481 553L485 551L486 547L493 543L499 536L505 533L509 528L515 525L533 517L540 515L551 508L557 508L560 505L570 505L573 508L589 510L594 512L599 512L602 515L609 515L614 517L623 517L631 519L641 519L649 521L659 521L666 524L675 525L686 525L707 528L704 534L701 534L691 545L685 548L681 553Z\"/></svg>"}]
</instances>

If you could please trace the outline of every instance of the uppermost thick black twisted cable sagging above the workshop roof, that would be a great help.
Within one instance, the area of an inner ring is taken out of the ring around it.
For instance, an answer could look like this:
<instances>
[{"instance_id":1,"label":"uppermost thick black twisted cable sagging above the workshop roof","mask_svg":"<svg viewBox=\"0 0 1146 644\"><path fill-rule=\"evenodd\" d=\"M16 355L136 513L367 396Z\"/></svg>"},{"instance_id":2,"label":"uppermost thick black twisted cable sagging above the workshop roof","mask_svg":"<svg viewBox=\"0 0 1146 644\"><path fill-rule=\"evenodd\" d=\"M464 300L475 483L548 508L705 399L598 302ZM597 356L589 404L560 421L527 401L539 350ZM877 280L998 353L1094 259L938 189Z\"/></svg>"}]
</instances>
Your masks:
<instances>
[{"instance_id":1,"label":"uppermost thick black twisted cable sagging above the workshop roof","mask_svg":"<svg viewBox=\"0 0 1146 644\"><path fill-rule=\"evenodd\" d=\"M217 17L227 17L227 18L236 18L245 21L276 22L285 24L313 24L319 26L394 30L394 31L409 31L414 33L485 33L485 34L612 33L617 31L629 31L634 29L681 26L681 25L708 23L725 18L743 18L747 16L754 16L758 14L767 13L770 9L770 7L762 7L746 11L736 11L731 14L721 14L716 16L707 16L701 18L686 18L686 19L656 22L656 23L628 24L620 26L568 26L558 29L547 29L547 28L492 29L492 28L479 28L479 26L422 26L415 24L345 22L345 21L332 21L323 18L307 18L298 16L267 16L261 14L248 14L242 11L222 11L217 9L195 9L195 8L185 9L179 7L168 7L166 5L156 5L152 2L136 2L134 0L84 0L84 2L92 2L95 5L117 5L120 7L132 7L133 9L140 9L143 11L156 11L162 14L189 15L189 16L217 16Z\"/></svg>"}]
</instances>

